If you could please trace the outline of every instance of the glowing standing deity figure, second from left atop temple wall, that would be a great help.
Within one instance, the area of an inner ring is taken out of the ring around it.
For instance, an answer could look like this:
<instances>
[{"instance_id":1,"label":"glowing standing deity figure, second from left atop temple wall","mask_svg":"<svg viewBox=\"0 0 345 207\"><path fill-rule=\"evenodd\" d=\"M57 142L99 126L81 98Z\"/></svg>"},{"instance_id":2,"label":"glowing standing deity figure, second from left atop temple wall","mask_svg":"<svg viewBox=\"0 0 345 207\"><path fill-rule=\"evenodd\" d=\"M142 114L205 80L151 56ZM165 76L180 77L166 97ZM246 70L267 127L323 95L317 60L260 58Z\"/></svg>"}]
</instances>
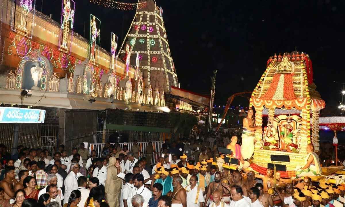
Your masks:
<instances>
[{"instance_id":1,"label":"glowing standing deity figure, second from left atop temple wall","mask_svg":"<svg viewBox=\"0 0 345 207\"><path fill-rule=\"evenodd\" d=\"M61 47L67 49L69 28L71 27L71 29L73 29L74 10L71 9L70 0L63 0L63 4L65 5L65 7L62 11L63 21L61 24L61 29L63 30L63 32ZM71 23L69 23L70 21Z\"/></svg>"}]
</instances>

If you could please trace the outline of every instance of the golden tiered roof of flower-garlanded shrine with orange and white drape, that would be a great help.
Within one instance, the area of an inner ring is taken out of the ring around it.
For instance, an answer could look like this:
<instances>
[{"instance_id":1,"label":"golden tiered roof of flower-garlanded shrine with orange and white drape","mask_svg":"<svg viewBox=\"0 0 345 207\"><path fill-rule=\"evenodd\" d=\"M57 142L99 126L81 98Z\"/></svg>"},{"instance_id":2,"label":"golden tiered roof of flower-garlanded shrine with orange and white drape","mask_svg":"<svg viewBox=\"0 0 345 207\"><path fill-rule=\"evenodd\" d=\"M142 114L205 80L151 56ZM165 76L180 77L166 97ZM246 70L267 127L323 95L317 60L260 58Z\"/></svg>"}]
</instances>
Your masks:
<instances>
[{"instance_id":1,"label":"golden tiered roof of flower-garlanded shrine with orange and white drape","mask_svg":"<svg viewBox=\"0 0 345 207\"><path fill-rule=\"evenodd\" d=\"M270 57L255 87L250 103L254 107L302 109L308 105L322 109L325 102L313 83L312 61L303 52Z\"/></svg>"}]
</instances>

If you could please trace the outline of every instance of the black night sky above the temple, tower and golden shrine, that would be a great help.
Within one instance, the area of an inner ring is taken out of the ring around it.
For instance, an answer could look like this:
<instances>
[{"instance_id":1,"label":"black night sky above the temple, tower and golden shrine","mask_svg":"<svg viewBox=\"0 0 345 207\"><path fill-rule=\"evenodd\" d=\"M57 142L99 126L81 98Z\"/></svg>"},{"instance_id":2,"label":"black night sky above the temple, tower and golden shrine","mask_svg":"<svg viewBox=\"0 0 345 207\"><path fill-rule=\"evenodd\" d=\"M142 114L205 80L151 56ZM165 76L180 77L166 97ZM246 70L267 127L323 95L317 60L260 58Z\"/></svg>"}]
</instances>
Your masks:
<instances>
[{"instance_id":1,"label":"black night sky above the temple, tower and golden shrine","mask_svg":"<svg viewBox=\"0 0 345 207\"><path fill-rule=\"evenodd\" d=\"M36 9L41 10L36 0ZM121 1L121 0L119 0ZM137 2L122 0L122 2ZM269 56L294 51L309 54L314 83L326 106L336 108L345 82L345 1L156 0L163 8L172 58L181 88L209 95L217 69L215 104L236 92L253 91ZM60 22L61 1L43 0L43 13ZM90 13L101 20L101 47L110 51L110 32L121 45L135 11L76 0L74 30L89 39ZM245 99L236 103L248 105Z\"/></svg>"}]
</instances>

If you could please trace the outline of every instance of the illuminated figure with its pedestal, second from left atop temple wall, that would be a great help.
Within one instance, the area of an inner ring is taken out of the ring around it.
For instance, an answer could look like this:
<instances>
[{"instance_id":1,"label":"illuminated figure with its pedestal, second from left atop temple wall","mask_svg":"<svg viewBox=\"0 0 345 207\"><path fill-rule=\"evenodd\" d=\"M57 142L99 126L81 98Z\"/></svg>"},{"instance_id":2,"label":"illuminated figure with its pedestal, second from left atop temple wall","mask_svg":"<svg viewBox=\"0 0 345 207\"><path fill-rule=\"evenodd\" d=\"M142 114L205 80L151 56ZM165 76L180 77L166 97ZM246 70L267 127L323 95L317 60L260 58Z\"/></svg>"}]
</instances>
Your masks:
<instances>
[{"instance_id":1,"label":"illuminated figure with its pedestal, second from left atop temple wall","mask_svg":"<svg viewBox=\"0 0 345 207\"><path fill-rule=\"evenodd\" d=\"M71 8L71 1L73 2L73 8ZM73 20L74 20L74 12L75 12L75 2L73 0L63 0L63 9L61 14L61 46L60 50L63 52L68 52L67 42L68 42L68 34L69 30L71 29L71 39L73 36Z\"/></svg>"}]
</instances>

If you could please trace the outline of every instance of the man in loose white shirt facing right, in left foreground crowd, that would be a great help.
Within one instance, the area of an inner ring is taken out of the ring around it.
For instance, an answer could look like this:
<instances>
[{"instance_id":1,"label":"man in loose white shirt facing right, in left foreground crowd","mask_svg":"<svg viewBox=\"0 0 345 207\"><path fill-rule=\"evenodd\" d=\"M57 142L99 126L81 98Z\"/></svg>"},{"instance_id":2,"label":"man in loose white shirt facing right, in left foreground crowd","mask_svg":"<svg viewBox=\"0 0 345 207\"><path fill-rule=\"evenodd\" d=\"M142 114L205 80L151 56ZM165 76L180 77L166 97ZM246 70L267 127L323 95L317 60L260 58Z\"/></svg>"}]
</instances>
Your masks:
<instances>
[{"instance_id":1,"label":"man in loose white shirt facing right, in left foreground crowd","mask_svg":"<svg viewBox=\"0 0 345 207\"><path fill-rule=\"evenodd\" d=\"M78 177L82 176L82 174L79 173L79 170L80 170L79 163L73 162L71 164L71 171L65 179L65 194L63 194L64 197L69 198L69 196L71 195L71 192L73 190L78 189ZM68 199L64 199L63 203L64 204L68 203Z\"/></svg>"}]
</instances>

